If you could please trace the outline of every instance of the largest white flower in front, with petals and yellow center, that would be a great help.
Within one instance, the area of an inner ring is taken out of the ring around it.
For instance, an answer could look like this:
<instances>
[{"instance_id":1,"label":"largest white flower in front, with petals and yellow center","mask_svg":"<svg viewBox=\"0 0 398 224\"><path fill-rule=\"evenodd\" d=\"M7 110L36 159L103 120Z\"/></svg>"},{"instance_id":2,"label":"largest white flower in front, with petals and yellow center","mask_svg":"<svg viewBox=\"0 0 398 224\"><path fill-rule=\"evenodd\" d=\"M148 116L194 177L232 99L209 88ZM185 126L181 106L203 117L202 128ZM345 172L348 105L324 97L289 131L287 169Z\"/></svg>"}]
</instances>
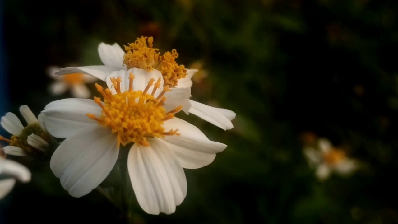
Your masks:
<instances>
[{"instance_id":1,"label":"largest white flower in front, with petals and yellow center","mask_svg":"<svg viewBox=\"0 0 398 224\"><path fill-rule=\"evenodd\" d=\"M129 150L127 169L140 206L149 214L171 214L187 194L183 168L209 165L226 145L174 117L181 99L166 100L170 89L159 71L133 68L111 77L111 90L96 84L103 102L62 99L43 110L50 134L66 138L51 157L51 170L70 195L81 197L107 177L119 150Z\"/></svg>"}]
</instances>

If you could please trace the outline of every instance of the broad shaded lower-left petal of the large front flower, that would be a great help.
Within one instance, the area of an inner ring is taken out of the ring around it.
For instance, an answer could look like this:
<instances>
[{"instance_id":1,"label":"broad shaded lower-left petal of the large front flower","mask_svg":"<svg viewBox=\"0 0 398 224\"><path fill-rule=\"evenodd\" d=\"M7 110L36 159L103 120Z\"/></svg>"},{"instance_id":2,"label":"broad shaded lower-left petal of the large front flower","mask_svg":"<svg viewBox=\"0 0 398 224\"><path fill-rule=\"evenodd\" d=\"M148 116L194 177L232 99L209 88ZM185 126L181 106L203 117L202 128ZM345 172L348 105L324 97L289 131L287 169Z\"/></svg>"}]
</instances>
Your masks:
<instances>
[{"instance_id":1,"label":"broad shaded lower-left petal of the large front flower","mask_svg":"<svg viewBox=\"0 0 398 224\"><path fill-rule=\"evenodd\" d=\"M118 155L116 136L108 128L87 127L62 141L50 167L70 195L81 197L100 185Z\"/></svg>"}]
</instances>

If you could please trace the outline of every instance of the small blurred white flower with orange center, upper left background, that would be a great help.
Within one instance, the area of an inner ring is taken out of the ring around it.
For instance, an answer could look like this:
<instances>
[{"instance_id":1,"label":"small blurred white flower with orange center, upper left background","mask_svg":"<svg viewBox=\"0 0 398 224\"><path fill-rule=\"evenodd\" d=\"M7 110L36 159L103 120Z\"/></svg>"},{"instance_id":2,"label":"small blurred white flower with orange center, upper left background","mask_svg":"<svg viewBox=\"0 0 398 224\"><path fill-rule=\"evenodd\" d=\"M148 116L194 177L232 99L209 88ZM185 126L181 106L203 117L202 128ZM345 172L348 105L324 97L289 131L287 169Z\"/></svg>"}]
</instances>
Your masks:
<instances>
[{"instance_id":1,"label":"small blurred white flower with orange center, upper left background","mask_svg":"<svg viewBox=\"0 0 398 224\"><path fill-rule=\"evenodd\" d=\"M50 85L50 91L54 95L64 94L70 89L70 94L75 98L89 98L91 93L86 83L94 83L96 77L84 73L71 73L63 76L56 76L60 67L50 66L47 68L47 75L55 81Z\"/></svg>"}]
</instances>

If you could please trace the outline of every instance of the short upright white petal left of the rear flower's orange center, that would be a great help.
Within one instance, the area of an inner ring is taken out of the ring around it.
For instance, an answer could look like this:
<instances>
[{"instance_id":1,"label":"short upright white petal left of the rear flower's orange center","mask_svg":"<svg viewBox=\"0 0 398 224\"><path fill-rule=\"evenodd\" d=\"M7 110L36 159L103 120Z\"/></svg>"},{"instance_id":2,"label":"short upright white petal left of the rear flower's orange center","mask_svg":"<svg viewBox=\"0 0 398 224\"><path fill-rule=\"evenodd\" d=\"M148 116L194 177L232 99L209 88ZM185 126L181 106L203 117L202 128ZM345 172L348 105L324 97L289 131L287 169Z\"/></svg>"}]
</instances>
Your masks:
<instances>
[{"instance_id":1,"label":"short upright white petal left of the rear flower's orange center","mask_svg":"<svg viewBox=\"0 0 398 224\"><path fill-rule=\"evenodd\" d=\"M104 65L123 67L123 56L125 52L119 46L114 43L113 45L100 43L98 45L98 54L100 55L101 61Z\"/></svg>"}]
</instances>

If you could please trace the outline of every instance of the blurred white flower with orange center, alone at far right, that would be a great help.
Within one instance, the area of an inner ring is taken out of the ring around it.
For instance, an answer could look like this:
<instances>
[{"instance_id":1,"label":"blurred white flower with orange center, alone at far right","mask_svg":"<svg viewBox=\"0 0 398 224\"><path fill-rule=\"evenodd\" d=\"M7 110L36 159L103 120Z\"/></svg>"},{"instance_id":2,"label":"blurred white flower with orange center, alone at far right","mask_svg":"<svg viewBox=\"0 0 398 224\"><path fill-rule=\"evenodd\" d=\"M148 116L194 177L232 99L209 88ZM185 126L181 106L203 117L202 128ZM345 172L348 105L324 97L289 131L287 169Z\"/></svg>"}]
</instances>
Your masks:
<instances>
[{"instance_id":1,"label":"blurred white flower with orange center, alone at far right","mask_svg":"<svg viewBox=\"0 0 398 224\"><path fill-rule=\"evenodd\" d=\"M327 179L331 172L347 176L359 168L356 160L347 158L345 151L333 147L325 138L320 138L315 147L304 147L304 155L320 180Z\"/></svg>"}]
</instances>

